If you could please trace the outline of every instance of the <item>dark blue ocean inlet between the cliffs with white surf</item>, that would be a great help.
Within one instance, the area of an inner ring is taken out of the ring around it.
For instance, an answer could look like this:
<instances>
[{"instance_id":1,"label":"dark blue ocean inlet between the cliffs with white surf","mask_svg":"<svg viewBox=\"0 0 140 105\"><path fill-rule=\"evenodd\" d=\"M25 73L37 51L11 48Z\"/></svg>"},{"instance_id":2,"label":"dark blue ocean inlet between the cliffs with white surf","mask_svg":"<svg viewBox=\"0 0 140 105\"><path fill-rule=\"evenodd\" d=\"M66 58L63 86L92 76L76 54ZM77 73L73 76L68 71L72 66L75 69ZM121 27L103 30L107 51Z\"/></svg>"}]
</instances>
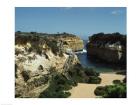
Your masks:
<instances>
[{"instance_id":1,"label":"dark blue ocean inlet between the cliffs with white surf","mask_svg":"<svg viewBox=\"0 0 140 105\"><path fill-rule=\"evenodd\" d=\"M87 41L84 40L84 45L87 44ZM118 68L113 67L112 65L107 65L103 63L96 63L92 62L87 58L86 46L84 46L83 52L77 52L76 55L78 56L82 66L93 68L97 72L115 72L119 71Z\"/></svg>"}]
</instances>

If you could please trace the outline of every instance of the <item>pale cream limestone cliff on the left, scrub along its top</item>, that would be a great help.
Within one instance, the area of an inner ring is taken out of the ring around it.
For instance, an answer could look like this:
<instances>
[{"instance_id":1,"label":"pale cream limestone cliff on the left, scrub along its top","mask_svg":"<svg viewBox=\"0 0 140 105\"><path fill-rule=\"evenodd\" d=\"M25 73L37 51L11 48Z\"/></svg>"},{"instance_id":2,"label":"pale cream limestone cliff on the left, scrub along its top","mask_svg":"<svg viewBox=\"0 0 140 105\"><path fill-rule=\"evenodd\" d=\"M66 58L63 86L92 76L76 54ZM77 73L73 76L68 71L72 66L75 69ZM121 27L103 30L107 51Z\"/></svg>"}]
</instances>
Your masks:
<instances>
[{"instance_id":1,"label":"pale cream limestone cliff on the left, scrub along its top","mask_svg":"<svg viewBox=\"0 0 140 105\"><path fill-rule=\"evenodd\" d=\"M63 45L61 46L60 42L73 40L67 46L75 51L79 48L69 45L80 39L68 37L61 38L60 41L59 38L54 37L16 35L16 97L38 97L49 86L48 81L52 75L58 72L66 74L69 66L79 63L76 55L67 55L63 51Z\"/></svg>"}]
</instances>

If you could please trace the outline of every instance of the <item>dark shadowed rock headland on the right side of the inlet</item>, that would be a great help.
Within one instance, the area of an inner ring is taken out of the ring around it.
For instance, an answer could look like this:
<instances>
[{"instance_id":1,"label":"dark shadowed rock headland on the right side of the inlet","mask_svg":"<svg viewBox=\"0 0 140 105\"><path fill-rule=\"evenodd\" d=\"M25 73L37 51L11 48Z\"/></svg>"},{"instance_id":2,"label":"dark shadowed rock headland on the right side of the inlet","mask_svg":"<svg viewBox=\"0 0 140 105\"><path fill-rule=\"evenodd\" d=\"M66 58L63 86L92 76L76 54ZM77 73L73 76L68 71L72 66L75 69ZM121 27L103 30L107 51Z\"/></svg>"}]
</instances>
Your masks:
<instances>
[{"instance_id":1,"label":"dark shadowed rock headland on the right side of the inlet","mask_svg":"<svg viewBox=\"0 0 140 105\"><path fill-rule=\"evenodd\" d=\"M126 64L126 36L119 33L95 34L87 44L87 55L94 61Z\"/></svg>"}]
</instances>

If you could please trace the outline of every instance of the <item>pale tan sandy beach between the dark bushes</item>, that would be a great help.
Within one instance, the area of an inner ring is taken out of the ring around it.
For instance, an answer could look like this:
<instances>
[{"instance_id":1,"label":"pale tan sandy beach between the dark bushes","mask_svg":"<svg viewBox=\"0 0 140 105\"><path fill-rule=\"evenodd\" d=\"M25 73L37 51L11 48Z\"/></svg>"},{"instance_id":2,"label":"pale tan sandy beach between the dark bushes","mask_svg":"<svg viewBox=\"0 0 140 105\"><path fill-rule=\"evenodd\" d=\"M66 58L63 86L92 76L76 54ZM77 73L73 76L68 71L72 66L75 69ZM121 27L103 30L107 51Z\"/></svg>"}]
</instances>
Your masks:
<instances>
[{"instance_id":1,"label":"pale tan sandy beach between the dark bushes","mask_svg":"<svg viewBox=\"0 0 140 105\"><path fill-rule=\"evenodd\" d=\"M115 73L101 73L100 77L102 78L101 84L86 84L78 83L77 87L73 87L70 90L70 98L96 98L94 90L98 86L111 85L113 80L123 80L124 75L118 75Z\"/></svg>"}]
</instances>

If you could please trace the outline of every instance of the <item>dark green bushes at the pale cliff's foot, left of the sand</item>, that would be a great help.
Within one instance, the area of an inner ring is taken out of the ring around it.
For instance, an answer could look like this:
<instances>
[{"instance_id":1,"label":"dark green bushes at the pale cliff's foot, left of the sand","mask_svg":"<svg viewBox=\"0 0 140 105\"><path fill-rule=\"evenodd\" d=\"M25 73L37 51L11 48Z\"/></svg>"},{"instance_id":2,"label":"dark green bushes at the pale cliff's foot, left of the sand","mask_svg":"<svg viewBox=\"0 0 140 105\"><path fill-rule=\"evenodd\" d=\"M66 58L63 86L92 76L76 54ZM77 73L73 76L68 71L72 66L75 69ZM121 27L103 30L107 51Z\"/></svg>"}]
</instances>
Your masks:
<instances>
[{"instance_id":1,"label":"dark green bushes at the pale cliff's foot, left of the sand","mask_svg":"<svg viewBox=\"0 0 140 105\"><path fill-rule=\"evenodd\" d=\"M87 70L91 70L87 72ZM49 87L40 94L40 98L66 98L71 94L68 90L73 86L77 86L77 83L100 83L99 73L96 73L91 68L83 68L80 64L76 64L68 71L68 77L64 74L55 72L55 68L51 68L52 79L49 82ZM87 75L87 74L88 75Z\"/></svg>"}]
</instances>

